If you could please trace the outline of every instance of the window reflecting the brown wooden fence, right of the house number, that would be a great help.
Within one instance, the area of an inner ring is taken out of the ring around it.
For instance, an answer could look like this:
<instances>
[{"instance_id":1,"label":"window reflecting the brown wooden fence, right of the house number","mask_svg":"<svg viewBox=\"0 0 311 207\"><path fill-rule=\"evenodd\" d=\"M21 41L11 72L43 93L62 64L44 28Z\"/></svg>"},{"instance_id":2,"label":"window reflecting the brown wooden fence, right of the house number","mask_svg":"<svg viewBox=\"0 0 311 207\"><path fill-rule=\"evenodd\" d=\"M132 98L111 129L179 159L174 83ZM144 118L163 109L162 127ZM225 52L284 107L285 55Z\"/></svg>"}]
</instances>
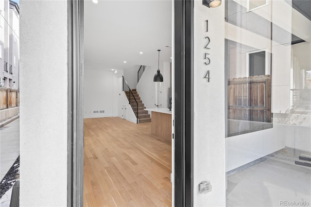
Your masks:
<instances>
[{"instance_id":1,"label":"window reflecting the brown wooden fence, right of the house number","mask_svg":"<svg viewBox=\"0 0 311 207\"><path fill-rule=\"evenodd\" d=\"M256 50L232 40L226 40L225 45L226 137L272 128L268 50Z\"/></svg>"}]
</instances>

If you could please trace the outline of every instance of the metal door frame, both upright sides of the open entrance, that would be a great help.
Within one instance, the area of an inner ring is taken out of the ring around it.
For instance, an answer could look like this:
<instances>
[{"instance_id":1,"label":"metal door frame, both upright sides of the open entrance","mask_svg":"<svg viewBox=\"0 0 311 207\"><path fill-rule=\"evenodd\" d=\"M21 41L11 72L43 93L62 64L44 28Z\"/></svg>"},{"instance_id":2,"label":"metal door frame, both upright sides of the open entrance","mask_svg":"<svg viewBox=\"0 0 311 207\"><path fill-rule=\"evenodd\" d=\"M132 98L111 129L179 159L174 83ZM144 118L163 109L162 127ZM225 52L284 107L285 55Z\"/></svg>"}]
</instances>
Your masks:
<instances>
[{"instance_id":1,"label":"metal door frame, both upright sides of the open entrance","mask_svg":"<svg viewBox=\"0 0 311 207\"><path fill-rule=\"evenodd\" d=\"M83 0L68 0L68 204L83 206ZM174 206L193 206L193 0L174 0Z\"/></svg>"}]
</instances>

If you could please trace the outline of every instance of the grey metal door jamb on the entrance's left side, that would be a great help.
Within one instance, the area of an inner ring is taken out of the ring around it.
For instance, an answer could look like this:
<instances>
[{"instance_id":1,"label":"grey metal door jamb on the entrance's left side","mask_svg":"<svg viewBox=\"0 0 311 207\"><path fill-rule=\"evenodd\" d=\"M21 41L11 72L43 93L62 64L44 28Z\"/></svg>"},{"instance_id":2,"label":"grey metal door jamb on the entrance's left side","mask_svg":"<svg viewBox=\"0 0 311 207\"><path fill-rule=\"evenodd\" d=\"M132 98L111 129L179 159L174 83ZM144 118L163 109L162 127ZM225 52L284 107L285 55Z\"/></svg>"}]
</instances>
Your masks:
<instances>
[{"instance_id":1,"label":"grey metal door jamb on the entrance's left side","mask_svg":"<svg viewBox=\"0 0 311 207\"><path fill-rule=\"evenodd\" d=\"M67 206L83 206L83 0L68 6Z\"/></svg>"}]
</instances>

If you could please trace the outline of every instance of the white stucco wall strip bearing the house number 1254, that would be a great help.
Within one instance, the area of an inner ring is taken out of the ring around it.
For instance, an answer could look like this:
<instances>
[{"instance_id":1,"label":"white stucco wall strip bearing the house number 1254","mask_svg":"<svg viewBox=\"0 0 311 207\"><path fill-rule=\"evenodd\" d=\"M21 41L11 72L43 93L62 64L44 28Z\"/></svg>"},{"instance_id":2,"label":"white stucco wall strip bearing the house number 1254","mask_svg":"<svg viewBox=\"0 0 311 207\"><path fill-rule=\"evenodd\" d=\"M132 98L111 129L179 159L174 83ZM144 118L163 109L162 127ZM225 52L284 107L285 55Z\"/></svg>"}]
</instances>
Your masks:
<instances>
[{"instance_id":1,"label":"white stucco wall strip bearing the house number 1254","mask_svg":"<svg viewBox=\"0 0 311 207\"><path fill-rule=\"evenodd\" d=\"M225 206L225 1L207 8L194 1L194 143L193 206ZM208 19L208 32L205 21ZM211 63L203 64L205 37ZM210 83L204 79L210 70ZM212 191L200 194L198 185L209 180Z\"/></svg>"}]
</instances>

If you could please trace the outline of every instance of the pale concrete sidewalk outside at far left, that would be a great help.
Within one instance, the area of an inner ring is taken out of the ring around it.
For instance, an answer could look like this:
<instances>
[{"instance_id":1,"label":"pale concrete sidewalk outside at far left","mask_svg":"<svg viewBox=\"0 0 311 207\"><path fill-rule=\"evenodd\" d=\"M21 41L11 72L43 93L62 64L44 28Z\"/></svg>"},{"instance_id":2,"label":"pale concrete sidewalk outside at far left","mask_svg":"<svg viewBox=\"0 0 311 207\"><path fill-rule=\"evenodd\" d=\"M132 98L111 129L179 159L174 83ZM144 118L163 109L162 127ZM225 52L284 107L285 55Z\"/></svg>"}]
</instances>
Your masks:
<instances>
[{"instance_id":1,"label":"pale concrete sidewalk outside at far left","mask_svg":"<svg viewBox=\"0 0 311 207\"><path fill-rule=\"evenodd\" d=\"M0 180L19 155L19 119L0 128Z\"/></svg>"}]
</instances>

